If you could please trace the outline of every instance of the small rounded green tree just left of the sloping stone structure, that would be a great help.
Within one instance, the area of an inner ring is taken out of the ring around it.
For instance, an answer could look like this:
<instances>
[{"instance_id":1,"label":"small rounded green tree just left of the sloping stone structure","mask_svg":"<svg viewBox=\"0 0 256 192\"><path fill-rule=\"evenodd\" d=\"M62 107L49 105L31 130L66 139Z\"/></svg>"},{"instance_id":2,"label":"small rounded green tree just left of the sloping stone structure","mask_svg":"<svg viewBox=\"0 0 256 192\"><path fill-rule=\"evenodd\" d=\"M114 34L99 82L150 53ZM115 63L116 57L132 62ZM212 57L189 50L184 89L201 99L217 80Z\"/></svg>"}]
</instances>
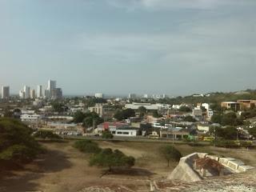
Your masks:
<instances>
[{"instance_id":1,"label":"small rounded green tree just left of the sloping stone structure","mask_svg":"<svg viewBox=\"0 0 256 192\"><path fill-rule=\"evenodd\" d=\"M162 146L160 148L162 157L166 159L167 166L169 167L170 160L178 162L182 158L182 154L174 146Z\"/></svg>"}]
</instances>

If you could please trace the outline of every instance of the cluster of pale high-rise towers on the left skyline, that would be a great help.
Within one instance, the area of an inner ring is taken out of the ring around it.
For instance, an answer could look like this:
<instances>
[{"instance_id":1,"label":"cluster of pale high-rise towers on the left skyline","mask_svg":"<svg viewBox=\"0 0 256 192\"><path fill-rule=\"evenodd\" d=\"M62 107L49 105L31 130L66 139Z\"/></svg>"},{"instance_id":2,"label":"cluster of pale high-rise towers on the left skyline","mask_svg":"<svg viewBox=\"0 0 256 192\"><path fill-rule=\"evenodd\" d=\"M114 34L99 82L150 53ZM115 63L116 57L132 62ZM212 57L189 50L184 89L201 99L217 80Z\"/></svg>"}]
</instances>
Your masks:
<instances>
[{"instance_id":1,"label":"cluster of pale high-rise towers on the left skyline","mask_svg":"<svg viewBox=\"0 0 256 192\"><path fill-rule=\"evenodd\" d=\"M58 99L62 98L62 89L56 87L57 82L49 80L46 90L43 91L41 85L37 86L37 90L30 90L30 86L24 86L22 90L19 91L19 97L22 99L27 98L50 98Z\"/></svg>"}]
</instances>

